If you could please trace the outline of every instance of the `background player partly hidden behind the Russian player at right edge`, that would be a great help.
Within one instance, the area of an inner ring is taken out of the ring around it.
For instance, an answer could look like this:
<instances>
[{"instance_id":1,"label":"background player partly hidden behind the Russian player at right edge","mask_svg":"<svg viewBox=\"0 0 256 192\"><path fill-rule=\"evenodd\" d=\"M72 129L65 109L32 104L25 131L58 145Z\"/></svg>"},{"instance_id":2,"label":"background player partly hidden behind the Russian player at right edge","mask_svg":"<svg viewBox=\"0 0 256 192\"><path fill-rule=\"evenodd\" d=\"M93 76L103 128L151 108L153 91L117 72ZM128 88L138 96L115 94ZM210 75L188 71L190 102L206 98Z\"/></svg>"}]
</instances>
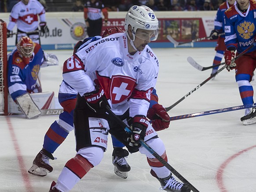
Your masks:
<instances>
[{"instance_id":1,"label":"background player partly hidden behind the Russian player at right edge","mask_svg":"<svg viewBox=\"0 0 256 192\"><path fill-rule=\"evenodd\" d=\"M224 22L223 22L224 13L229 7L231 7L234 4L236 4L235 0L227 0L226 2L220 4L220 6L217 10L217 14L216 14L216 17L214 20L214 29L212 30L211 35L210 35L211 40L218 39L216 47L215 47L216 54L215 54L212 65L218 65L221 62L221 60L223 58L224 51L226 50L226 46L224 43L225 34L223 34L221 36L219 36L219 34L224 33ZM212 68L211 74L214 74L217 70L218 70L218 67Z\"/></svg>"}]
</instances>

